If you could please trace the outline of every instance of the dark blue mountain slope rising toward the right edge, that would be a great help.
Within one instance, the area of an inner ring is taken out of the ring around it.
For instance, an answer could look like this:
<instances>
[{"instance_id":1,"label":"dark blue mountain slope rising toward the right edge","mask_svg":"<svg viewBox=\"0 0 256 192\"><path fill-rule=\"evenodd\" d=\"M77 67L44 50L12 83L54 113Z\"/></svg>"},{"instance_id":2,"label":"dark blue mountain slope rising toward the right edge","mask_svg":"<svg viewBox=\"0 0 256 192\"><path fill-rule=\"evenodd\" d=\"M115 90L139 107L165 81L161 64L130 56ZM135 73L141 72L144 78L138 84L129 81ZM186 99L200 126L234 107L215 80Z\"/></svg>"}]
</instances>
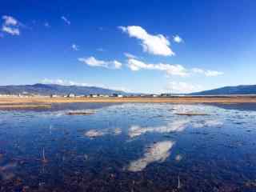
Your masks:
<instances>
[{"instance_id":1,"label":"dark blue mountain slope rising toward the right edge","mask_svg":"<svg viewBox=\"0 0 256 192\"><path fill-rule=\"evenodd\" d=\"M220 95L220 94L256 94L256 85L252 86L224 86L214 90L204 90L190 95Z\"/></svg>"}]
</instances>

